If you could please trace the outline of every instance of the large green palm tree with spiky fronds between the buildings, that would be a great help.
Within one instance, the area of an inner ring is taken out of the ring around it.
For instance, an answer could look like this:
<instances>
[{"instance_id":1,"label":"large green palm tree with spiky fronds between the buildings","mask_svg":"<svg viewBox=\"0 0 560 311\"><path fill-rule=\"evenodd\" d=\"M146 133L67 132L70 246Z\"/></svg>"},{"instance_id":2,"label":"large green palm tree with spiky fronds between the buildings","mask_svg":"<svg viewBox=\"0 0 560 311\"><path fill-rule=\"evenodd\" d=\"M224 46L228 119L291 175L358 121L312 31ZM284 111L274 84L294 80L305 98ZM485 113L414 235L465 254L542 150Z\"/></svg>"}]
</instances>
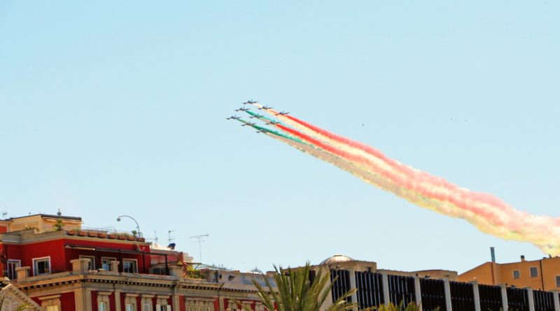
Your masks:
<instances>
[{"instance_id":1,"label":"large green palm tree with spiky fronds between the buildings","mask_svg":"<svg viewBox=\"0 0 560 311\"><path fill-rule=\"evenodd\" d=\"M262 288L258 282L253 284L258 290L258 296L262 305L268 311L318 311L325 299L330 295L332 283L328 284L329 275L322 270L316 271L314 280L309 280L309 262L302 268L283 269L274 266L274 283L272 287L269 278L263 275L267 289ZM327 285L328 284L328 285ZM347 298L355 291L349 291L340 296L325 311L351 311L358 307L358 303L350 303ZM367 309L370 310L370 309ZM363 311L367 311L363 310Z\"/></svg>"}]
</instances>

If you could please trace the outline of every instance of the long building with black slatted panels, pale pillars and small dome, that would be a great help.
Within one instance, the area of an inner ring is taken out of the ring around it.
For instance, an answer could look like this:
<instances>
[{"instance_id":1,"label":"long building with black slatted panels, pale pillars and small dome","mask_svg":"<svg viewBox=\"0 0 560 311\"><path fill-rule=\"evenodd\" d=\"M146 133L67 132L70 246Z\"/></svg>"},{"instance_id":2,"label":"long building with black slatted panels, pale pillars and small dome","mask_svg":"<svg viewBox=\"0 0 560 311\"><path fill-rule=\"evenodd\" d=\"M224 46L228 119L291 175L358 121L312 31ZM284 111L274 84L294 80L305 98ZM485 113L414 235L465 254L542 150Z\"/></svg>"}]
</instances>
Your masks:
<instances>
[{"instance_id":1,"label":"long building with black slatted panels, pale pillars and small dome","mask_svg":"<svg viewBox=\"0 0 560 311\"><path fill-rule=\"evenodd\" d=\"M414 302L423 310L560 311L558 291L458 282L454 271L381 270L372 261L356 261L342 255L325 259L313 268L330 273L332 292L323 309L347 291L356 289L349 300L358 303L360 309Z\"/></svg>"}]
</instances>

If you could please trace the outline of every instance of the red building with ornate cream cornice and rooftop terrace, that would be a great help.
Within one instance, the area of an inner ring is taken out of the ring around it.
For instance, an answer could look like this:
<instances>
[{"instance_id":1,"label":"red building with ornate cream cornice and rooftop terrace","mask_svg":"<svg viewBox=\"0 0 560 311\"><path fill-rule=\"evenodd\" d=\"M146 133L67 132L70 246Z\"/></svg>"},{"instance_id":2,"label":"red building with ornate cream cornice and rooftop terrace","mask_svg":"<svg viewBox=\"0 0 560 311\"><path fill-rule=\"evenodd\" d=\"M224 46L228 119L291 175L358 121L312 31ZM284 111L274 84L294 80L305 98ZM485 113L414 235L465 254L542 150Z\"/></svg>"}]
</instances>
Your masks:
<instances>
[{"instance_id":1,"label":"red building with ornate cream cornice and rooftop terrace","mask_svg":"<svg viewBox=\"0 0 560 311\"><path fill-rule=\"evenodd\" d=\"M189 277L181 252L152 249L138 233L86 230L81 224L79 217L60 215L0 221L0 268L7 277L2 286L10 289L6 294L12 293L14 305L27 301L46 311L235 311L241 308L235 299L264 310L251 284L258 275Z\"/></svg>"}]
</instances>

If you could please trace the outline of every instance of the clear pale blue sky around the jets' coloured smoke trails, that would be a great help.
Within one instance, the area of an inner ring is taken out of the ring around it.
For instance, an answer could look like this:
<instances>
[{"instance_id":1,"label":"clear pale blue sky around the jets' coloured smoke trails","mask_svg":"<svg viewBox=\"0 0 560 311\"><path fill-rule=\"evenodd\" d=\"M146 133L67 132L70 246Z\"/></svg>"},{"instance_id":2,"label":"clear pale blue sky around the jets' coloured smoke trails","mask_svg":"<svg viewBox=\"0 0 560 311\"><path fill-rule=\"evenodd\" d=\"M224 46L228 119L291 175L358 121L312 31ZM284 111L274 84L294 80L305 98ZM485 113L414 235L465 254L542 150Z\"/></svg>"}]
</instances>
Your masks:
<instances>
[{"instance_id":1,"label":"clear pale blue sky around the jets' coloured smoke trails","mask_svg":"<svg viewBox=\"0 0 560 311\"><path fill-rule=\"evenodd\" d=\"M0 209L239 270L538 259L225 120L252 98L559 216L560 5L452 2L1 1Z\"/></svg>"}]
</instances>

